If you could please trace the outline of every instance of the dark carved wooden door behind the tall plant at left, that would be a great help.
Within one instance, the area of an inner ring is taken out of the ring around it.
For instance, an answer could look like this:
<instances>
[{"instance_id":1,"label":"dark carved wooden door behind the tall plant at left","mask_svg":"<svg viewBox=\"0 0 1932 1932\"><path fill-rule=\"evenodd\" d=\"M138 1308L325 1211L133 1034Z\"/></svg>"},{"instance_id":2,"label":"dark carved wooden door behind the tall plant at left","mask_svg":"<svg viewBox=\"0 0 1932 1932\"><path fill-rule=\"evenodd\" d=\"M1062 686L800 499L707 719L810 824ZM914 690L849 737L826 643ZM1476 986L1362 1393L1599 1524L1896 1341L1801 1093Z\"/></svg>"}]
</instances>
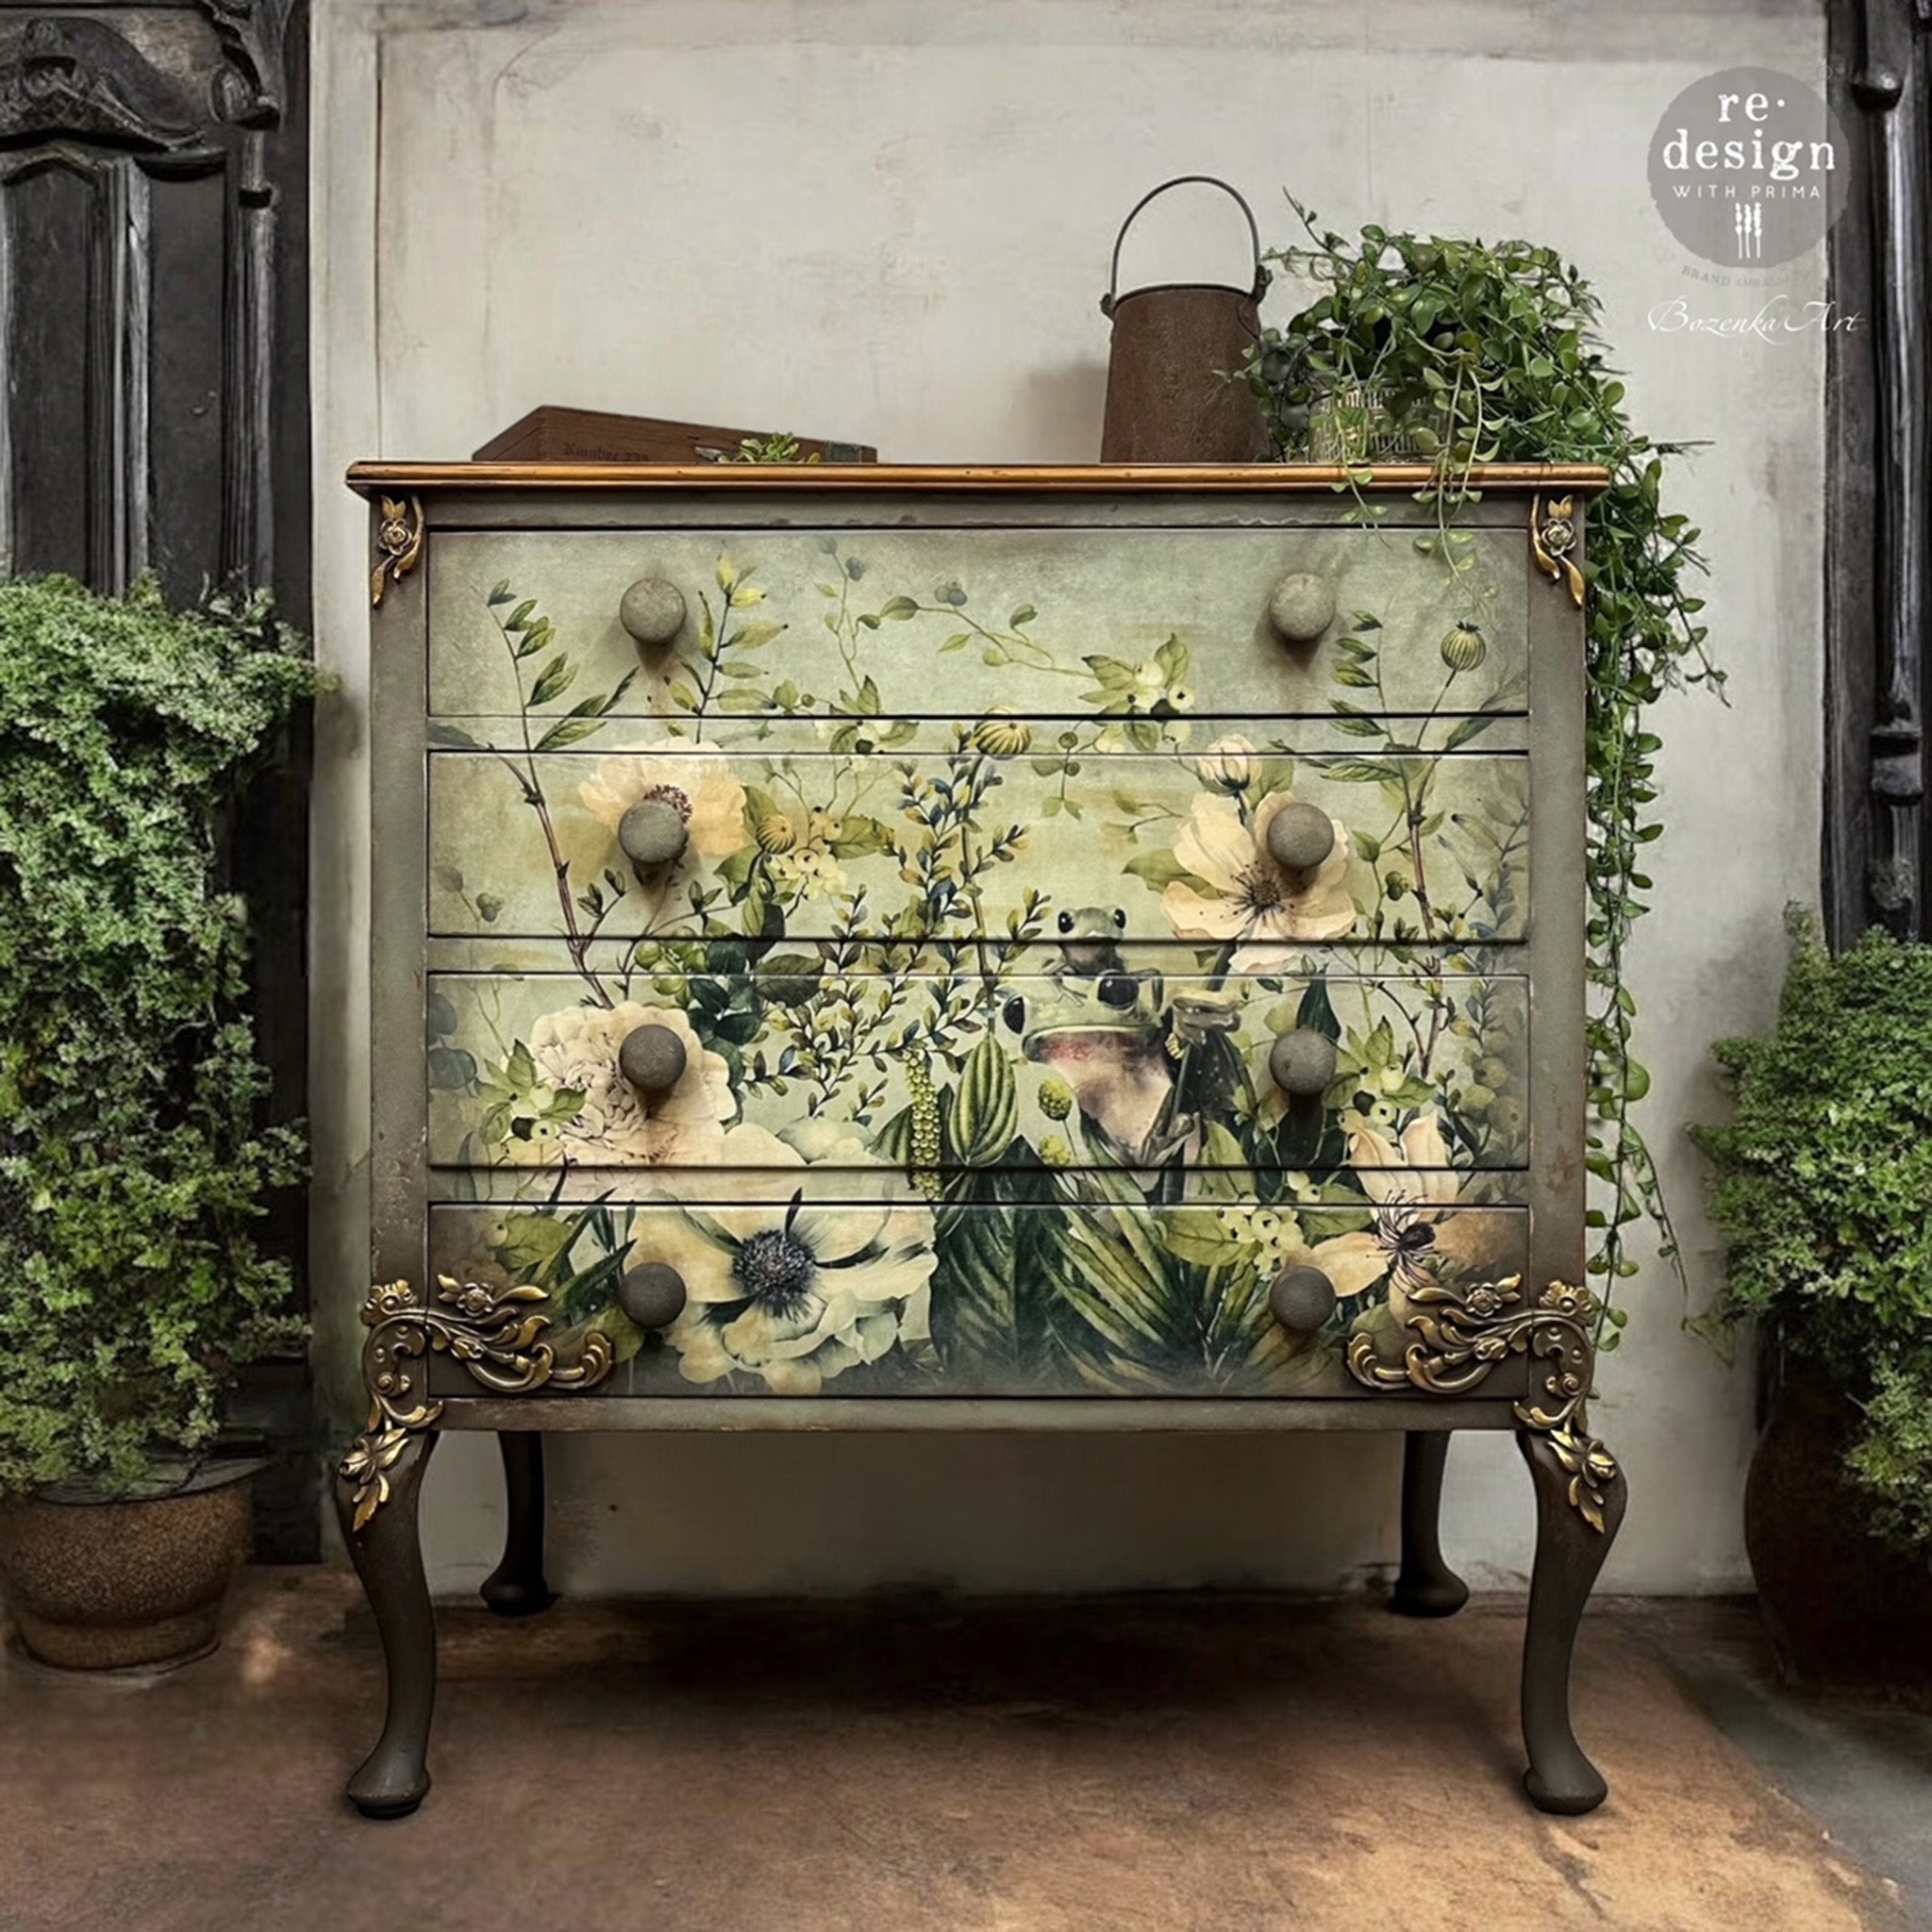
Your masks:
<instances>
[{"instance_id":1,"label":"dark carved wooden door behind the tall plant at left","mask_svg":"<svg viewBox=\"0 0 1932 1932\"><path fill-rule=\"evenodd\" d=\"M309 616L307 4L0 0L0 568L172 599L267 583ZM274 1111L303 1111L307 744L240 815ZM276 1242L303 1273L303 1204ZM265 1557L317 1553L301 1360L236 1422Z\"/></svg>"}]
</instances>

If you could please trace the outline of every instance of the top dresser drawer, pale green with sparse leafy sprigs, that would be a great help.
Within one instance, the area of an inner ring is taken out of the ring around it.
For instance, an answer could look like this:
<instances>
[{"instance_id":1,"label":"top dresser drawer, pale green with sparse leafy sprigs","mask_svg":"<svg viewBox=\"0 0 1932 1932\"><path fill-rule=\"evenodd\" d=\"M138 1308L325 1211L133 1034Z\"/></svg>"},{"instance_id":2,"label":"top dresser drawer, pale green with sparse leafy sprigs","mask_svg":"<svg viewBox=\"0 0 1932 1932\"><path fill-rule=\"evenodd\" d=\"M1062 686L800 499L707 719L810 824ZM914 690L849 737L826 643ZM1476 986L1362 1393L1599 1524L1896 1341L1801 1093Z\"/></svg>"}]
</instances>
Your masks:
<instances>
[{"instance_id":1,"label":"top dresser drawer, pale green with sparse leafy sprigs","mask_svg":"<svg viewBox=\"0 0 1932 1932\"><path fill-rule=\"evenodd\" d=\"M1416 529L444 531L429 709L551 721L630 678L611 715L972 717L995 694L1078 717L1099 659L1126 670L1122 711L1520 711L1522 535L1468 537L1451 580ZM576 680L531 701L553 651Z\"/></svg>"}]
</instances>

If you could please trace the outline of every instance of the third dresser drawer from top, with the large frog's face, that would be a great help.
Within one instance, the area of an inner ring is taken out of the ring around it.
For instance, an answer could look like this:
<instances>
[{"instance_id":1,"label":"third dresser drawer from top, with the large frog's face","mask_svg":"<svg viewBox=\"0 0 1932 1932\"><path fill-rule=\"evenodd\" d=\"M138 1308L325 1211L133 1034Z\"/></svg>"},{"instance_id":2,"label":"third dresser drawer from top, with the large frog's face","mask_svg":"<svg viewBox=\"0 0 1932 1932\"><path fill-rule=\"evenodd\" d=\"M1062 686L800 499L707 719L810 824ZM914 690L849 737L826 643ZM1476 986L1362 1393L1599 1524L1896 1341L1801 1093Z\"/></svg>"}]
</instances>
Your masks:
<instances>
[{"instance_id":1,"label":"third dresser drawer from top, with the large frog's face","mask_svg":"<svg viewBox=\"0 0 1932 1932\"><path fill-rule=\"evenodd\" d=\"M993 978L970 949L951 974L684 951L744 966L612 976L612 1007L560 974L433 978L431 1161L626 1186L624 1169L755 1167L777 1136L833 1169L1264 1167L1318 1190L1337 1169L1528 1153L1513 974L1213 980L1111 933Z\"/></svg>"}]
</instances>

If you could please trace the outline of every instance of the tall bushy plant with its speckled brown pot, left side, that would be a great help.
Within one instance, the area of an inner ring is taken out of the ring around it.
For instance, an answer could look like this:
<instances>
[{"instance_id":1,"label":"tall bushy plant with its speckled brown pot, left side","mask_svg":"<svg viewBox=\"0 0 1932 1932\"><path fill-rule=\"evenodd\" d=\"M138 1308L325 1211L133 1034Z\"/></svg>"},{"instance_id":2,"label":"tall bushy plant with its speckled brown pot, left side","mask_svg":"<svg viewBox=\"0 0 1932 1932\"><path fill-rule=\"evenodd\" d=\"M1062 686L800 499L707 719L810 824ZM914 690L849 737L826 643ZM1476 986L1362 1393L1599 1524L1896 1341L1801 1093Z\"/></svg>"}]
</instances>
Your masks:
<instances>
[{"instance_id":1,"label":"tall bushy plant with its speckled brown pot, left side","mask_svg":"<svg viewBox=\"0 0 1932 1932\"><path fill-rule=\"evenodd\" d=\"M253 1464L207 1453L298 1329L255 1225L303 1159L220 850L315 686L261 595L0 582L0 1584L50 1663L213 1648L247 1549Z\"/></svg>"}]
</instances>

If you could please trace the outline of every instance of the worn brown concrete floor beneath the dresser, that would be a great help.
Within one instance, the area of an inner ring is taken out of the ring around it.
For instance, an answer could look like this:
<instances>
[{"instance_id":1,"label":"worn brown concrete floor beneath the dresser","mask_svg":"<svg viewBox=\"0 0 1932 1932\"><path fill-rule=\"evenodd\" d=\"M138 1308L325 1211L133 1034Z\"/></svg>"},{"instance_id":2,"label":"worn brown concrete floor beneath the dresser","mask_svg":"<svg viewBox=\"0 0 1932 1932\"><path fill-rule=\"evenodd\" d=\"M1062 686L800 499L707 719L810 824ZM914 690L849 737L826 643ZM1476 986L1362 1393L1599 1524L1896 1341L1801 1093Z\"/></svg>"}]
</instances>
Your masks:
<instances>
[{"instance_id":1,"label":"worn brown concrete floor beneath the dresser","mask_svg":"<svg viewBox=\"0 0 1932 1932\"><path fill-rule=\"evenodd\" d=\"M450 1605L440 1629L437 1789L381 1826L338 1795L381 1694L344 1575L251 1575L222 1650L145 1685L8 1656L0 1928L1932 1924L1932 1719L1861 1737L1781 1700L1748 1605L1596 1605L1578 1731L1611 1801L1577 1820L1517 1793L1515 1604Z\"/></svg>"}]
</instances>

